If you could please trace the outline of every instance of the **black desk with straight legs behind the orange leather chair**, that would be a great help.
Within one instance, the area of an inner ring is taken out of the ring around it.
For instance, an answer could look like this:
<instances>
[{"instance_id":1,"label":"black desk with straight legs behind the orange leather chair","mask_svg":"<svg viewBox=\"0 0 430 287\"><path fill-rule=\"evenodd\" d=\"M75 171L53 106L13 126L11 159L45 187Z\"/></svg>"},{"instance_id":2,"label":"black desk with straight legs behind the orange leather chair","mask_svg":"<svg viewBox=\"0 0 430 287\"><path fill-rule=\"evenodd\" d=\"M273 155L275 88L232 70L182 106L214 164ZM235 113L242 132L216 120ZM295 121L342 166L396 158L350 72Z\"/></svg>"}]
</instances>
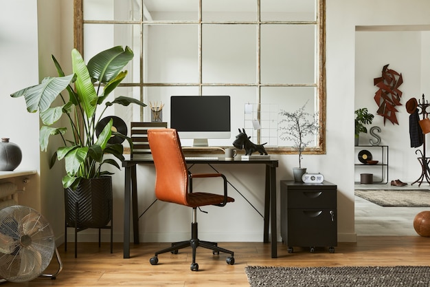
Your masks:
<instances>
[{"instance_id":1,"label":"black desk with straight legs behind the orange leather chair","mask_svg":"<svg viewBox=\"0 0 430 287\"><path fill-rule=\"evenodd\" d=\"M153 164L150 159L124 160L124 258L130 258L130 216L133 218L134 243L139 243L139 216L137 213L136 165ZM188 164L264 164L266 180L264 190L264 236L263 242L269 242L269 219L271 219L271 257L278 257L276 236L276 167L278 160L187 160ZM130 209L131 213L130 213Z\"/></svg>"}]
</instances>

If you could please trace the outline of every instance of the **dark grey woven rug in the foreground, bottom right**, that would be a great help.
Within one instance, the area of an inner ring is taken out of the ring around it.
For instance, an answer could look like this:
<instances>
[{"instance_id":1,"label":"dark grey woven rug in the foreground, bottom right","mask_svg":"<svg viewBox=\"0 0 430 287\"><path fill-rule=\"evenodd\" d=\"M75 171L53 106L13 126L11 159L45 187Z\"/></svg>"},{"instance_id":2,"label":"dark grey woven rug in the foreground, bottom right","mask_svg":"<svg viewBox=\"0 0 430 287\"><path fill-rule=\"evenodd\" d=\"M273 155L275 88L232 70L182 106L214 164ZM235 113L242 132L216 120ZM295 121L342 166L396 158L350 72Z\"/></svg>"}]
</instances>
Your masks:
<instances>
[{"instance_id":1,"label":"dark grey woven rug in the foreground, bottom right","mask_svg":"<svg viewBox=\"0 0 430 287\"><path fill-rule=\"evenodd\" d=\"M251 287L429 287L430 266L245 267Z\"/></svg>"}]
</instances>

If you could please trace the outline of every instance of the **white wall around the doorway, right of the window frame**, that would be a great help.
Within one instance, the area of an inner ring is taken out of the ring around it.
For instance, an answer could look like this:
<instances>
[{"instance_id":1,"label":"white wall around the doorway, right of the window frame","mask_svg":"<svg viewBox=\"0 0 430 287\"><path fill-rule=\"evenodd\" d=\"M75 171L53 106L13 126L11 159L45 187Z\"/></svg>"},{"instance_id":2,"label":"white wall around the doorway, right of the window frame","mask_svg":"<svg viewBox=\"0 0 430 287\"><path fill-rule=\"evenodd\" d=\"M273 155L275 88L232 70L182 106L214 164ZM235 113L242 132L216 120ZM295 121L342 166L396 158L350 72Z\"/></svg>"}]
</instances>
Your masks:
<instances>
[{"instance_id":1,"label":"white wall around the doorway, right of the window frame","mask_svg":"<svg viewBox=\"0 0 430 287\"><path fill-rule=\"evenodd\" d=\"M430 22L427 17L429 11L430 3L424 0L409 1L408 3L400 0L377 2L335 0L327 3L327 115L329 123L337 121L328 127L327 147L328 149L337 149L336 153L342 155L342 158L330 157L327 164L339 171L337 178L343 183L339 190L341 198L338 200L340 207L338 213L342 217L344 216L344 222L339 221L339 232L341 233L348 233L354 228L354 187L352 184L354 180L354 157L357 155L354 152L353 115L354 98L360 96L355 94L355 82L362 81L355 76L355 54L357 52L355 27L357 25L428 24ZM396 41L393 43L398 45ZM366 58L370 56L367 54ZM391 64L392 62L388 63ZM397 69L396 67L392 68ZM403 71L398 69L398 72ZM371 83L373 78L378 76L378 74L375 76L374 74L367 76L367 74L365 77L370 78ZM402 154L396 154L396 151L392 153L390 150L390 158L391 156L394 158L403 157ZM406 169L409 167L405 167ZM343 223L348 224L349 227Z\"/></svg>"}]
</instances>

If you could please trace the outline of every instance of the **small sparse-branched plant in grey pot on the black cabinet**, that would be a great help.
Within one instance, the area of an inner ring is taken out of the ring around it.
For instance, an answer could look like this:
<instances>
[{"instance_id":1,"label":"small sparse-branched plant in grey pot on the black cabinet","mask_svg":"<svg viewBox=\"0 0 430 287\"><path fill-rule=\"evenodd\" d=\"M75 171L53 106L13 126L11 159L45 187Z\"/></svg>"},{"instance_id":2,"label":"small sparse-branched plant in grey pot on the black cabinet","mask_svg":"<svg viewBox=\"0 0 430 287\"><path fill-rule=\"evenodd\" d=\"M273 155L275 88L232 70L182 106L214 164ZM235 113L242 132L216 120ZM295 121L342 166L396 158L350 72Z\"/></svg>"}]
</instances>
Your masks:
<instances>
[{"instance_id":1,"label":"small sparse-branched plant in grey pot on the black cabinet","mask_svg":"<svg viewBox=\"0 0 430 287\"><path fill-rule=\"evenodd\" d=\"M310 142L314 141L313 136L319 131L318 116L305 111L307 103L293 112L280 111L280 138L293 142L299 156L299 167L293 167L295 182L302 182L302 176L306 173L306 168L302 167L302 153Z\"/></svg>"}]
</instances>

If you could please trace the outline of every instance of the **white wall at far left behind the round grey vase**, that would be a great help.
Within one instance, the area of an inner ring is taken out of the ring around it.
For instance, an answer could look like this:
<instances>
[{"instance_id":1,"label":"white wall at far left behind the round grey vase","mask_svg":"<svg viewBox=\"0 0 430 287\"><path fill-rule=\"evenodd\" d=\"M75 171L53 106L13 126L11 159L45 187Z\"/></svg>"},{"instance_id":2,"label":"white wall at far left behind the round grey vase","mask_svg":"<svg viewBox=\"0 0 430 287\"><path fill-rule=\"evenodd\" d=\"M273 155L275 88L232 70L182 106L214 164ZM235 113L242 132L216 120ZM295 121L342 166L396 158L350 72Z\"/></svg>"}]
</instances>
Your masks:
<instances>
[{"instance_id":1,"label":"white wall at far left behind the round grey vase","mask_svg":"<svg viewBox=\"0 0 430 287\"><path fill-rule=\"evenodd\" d=\"M25 21L22 21L25 19ZM0 12L0 137L21 147L16 170L39 169L38 114L29 114L24 98L10 94L38 82L37 7L35 1L5 1ZM19 203L40 211L39 176L32 176Z\"/></svg>"}]
</instances>

